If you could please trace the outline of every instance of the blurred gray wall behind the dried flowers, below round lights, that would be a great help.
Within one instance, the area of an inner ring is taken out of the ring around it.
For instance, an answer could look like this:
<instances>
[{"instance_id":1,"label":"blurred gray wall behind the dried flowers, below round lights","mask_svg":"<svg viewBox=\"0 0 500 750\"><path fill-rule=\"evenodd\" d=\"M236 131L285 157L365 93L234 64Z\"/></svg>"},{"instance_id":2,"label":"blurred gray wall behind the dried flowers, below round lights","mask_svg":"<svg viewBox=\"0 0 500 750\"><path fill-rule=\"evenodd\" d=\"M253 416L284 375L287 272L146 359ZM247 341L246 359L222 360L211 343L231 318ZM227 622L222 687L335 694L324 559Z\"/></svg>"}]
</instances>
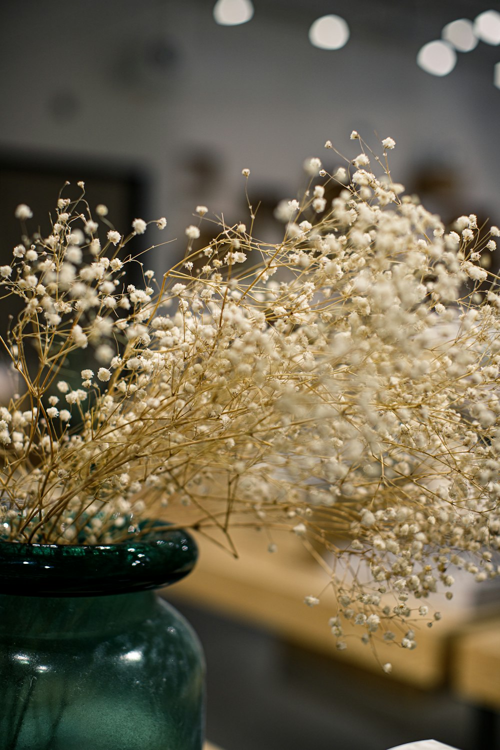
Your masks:
<instances>
[{"instance_id":1,"label":"blurred gray wall behind the dried flowers, below round lights","mask_svg":"<svg viewBox=\"0 0 500 750\"><path fill-rule=\"evenodd\" d=\"M225 27L214 23L211 0L3 0L0 151L139 166L151 179L145 218L166 215L169 238L184 246L199 202L245 220L242 167L253 194L291 197L305 157L338 163L325 139L358 153L355 128L374 146L374 131L396 139L392 172L410 188L430 164L451 173L449 189L428 196L433 210L499 220L499 47L459 53L443 78L415 62L445 23L491 5L254 5L250 23ZM343 49L311 46L308 28L325 13L349 23Z\"/></svg>"}]
</instances>

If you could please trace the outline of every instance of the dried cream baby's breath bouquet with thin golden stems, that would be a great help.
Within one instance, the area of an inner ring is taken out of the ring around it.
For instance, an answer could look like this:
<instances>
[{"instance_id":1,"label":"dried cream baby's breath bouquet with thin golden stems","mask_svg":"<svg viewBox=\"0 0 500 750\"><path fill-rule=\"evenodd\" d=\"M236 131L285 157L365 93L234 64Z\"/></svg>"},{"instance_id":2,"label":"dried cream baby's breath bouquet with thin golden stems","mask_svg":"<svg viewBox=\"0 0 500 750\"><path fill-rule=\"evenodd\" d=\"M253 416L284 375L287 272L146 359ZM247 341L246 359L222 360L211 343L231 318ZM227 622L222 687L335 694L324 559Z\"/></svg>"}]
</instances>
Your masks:
<instances>
[{"instance_id":1,"label":"dried cream baby's breath bouquet with thin golden stems","mask_svg":"<svg viewBox=\"0 0 500 750\"><path fill-rule=\"evenodd\" d=\"M126 245L165 219L121 236L79 183L30 236L19 205L0 266L22 304L1 338L18 380L0 408L5 541L106 543L152 509L229 547L233 525L269 529L271 549L288 526L325 547L340 648L350 624L391 640L391 621L425 617L410 601L450 586L451 564L498 574L500 291L483 257L500 230L471 214L446 233L392 181L394 140L379 157L352 139L332 175L307 160L280 242L253 236L250 201L248 229L199 206L158 279Z\"/></svg>"}]
</instances>

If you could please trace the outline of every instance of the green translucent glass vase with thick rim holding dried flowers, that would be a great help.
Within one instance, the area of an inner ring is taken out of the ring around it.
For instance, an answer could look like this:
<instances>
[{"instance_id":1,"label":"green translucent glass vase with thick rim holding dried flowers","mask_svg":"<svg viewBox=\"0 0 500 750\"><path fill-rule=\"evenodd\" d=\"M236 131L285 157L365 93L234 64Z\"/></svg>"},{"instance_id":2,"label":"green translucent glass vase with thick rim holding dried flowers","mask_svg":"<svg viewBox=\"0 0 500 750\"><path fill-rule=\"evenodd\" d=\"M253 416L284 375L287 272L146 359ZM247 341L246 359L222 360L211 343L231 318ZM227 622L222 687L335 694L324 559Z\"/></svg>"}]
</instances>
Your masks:
<instances>
[{"instance_id":1,"label":"green translucent glass vase with thick rim holding dried flowers","mask_svg":"<svg viewBox=\"0 0 500 750\"><path fill-rule=\"evenodd\" d=\"M151 590L196 556L164 526L119 544L0 541L1 750L201 750L202 649Z\"/></svg>"}]
</instances>

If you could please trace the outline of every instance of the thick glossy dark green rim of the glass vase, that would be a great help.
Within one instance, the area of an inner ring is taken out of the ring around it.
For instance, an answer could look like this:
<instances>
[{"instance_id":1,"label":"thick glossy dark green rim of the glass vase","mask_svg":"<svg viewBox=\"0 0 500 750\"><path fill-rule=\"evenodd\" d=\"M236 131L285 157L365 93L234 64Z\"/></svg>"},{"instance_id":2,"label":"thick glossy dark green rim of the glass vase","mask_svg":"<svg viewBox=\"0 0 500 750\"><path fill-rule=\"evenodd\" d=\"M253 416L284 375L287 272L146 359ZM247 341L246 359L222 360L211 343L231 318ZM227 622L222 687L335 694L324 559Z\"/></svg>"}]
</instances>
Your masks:
<instances>
[{"instance_id":1,"label":"thick glossy dark green rim of the glass vase","mask_svg":"<svg viewBox=\"0 0 500 750\"><path fill-rule=\"evenodd\" d=\"M0 593L95 596L144 591L181 580L197 557L193 537L161 521L148 522L142 536L110 544L0 541Z\"/></svg>"}]
</instances>

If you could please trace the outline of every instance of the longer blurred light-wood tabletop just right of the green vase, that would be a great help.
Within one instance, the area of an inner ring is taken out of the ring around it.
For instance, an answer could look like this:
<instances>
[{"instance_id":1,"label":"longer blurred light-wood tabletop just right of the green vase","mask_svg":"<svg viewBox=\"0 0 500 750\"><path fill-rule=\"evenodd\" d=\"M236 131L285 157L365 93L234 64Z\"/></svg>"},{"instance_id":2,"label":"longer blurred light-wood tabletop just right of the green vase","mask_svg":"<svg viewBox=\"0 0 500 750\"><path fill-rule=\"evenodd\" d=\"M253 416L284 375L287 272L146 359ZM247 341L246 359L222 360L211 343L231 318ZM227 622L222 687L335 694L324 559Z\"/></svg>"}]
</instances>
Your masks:
<instances>
[{"instance_id":1,"label":"longer blurred light-wood tabletop just right of the green vase","mask_svg":"<svg viewBox=\"0 0 500 750\"><path fill-rule=\"evenodd\" d=\"M166 593L168 598L172 595L174 601L175 598L184 599L217 613L264 626L289 642L325 652L333 658L369 670L380 671L370 646L364 646L358 637L350 637L348 648L337 651L328 627L328 619L335 614L333 592L323 595L316 607L304 604L304 596L318 596L329 579L328 573L308 558L294 535L288 533L274 538L278 546L275 553L268 552L268 538L264 532L240 529L234 532L233 537L238 559L213 542L198 538L199 564L193 573L169 589ZM432 628L428 628L424 622L420 625L417 623L418 647L415 650L379 643L379 661L393 664L395 678L424 689L436 688L448 682L449 664L459 658L463 659L464 664L460 671L460 684L466 690L465 674L469 669L466 664L474 661L474 658L470 658L470 646L466 645L465 640L457 641L457 636L466 632L469 623L478 620L479 613L470 606L460 607L454 601L445 603L443 598L442 604L439 604L444 613L443 619ZM483 607L481 616L484 613ZM491 638L490 647L496 649L498 665L500 634L496 638L492 634ZM450 659L451 649L455 647L458 649L457 655ZM499 673L500 670L497 675ZM497 678L500 689L499 682L500 678Z\"/></svg>"}]
</instances>

